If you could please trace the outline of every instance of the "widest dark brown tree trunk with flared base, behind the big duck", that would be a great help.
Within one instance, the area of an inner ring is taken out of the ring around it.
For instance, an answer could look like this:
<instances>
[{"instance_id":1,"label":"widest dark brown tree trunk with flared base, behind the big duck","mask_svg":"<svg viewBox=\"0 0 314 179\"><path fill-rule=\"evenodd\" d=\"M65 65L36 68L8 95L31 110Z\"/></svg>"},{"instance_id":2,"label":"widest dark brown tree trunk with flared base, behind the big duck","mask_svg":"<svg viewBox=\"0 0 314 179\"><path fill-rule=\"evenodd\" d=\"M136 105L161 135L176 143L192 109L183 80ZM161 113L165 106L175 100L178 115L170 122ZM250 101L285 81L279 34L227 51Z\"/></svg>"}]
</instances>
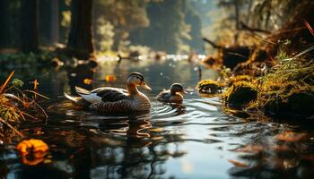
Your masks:
<instances>
[{"instance_id":1,"label":"widest dark brown tree trunk with flared base, behind the big duck","mask_svg":"<svg viewBox=\"0 0 314 179\"><path fill-rule=\"evenodd\" d=\"M67 42L69 55L87 60L93 55L92 0L72 0L71 30Z\"/></svg>"}]
</instances>

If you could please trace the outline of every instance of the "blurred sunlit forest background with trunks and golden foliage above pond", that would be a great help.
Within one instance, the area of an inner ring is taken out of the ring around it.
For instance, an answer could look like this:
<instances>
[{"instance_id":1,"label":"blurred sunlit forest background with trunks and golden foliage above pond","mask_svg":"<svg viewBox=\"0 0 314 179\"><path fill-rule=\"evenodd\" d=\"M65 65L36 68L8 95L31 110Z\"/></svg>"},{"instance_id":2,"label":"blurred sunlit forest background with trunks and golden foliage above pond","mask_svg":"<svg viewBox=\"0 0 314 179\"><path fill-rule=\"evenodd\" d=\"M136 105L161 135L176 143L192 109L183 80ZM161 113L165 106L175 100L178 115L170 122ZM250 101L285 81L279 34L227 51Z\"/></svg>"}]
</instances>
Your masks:
<instances>
[{"instance_id":1,"label":"blurred sunlit forest background with trunks and golden foliage above pond","mask_svg":"<svg viewBox=\"0 0 314 179\"><path fill-rule=\"evenodd\" d=\"M132 50L205 54L211 46L202 38L241 46L289 38L297 47L311 43L303 21L312 24L312 10L310 0L2 0L0 49L57 47L87 59Z\"/></svg>"}]
</instances>

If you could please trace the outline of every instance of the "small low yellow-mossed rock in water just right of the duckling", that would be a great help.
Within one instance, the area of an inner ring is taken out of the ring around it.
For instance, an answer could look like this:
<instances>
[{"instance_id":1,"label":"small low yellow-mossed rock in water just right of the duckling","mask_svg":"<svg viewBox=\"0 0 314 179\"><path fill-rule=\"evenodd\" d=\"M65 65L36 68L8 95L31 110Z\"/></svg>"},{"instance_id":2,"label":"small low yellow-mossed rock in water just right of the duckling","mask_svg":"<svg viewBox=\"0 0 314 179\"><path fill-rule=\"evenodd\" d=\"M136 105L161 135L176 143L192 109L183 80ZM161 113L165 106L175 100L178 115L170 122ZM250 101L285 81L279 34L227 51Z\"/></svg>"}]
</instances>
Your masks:
<instances>
[{"instance_id":1,"label":"small low yellow-mossed rock in water just right of the duckling","mask_svg":"<svg viewBox=\"0 0 314 179\"><path fill-rule=\"evenodd\" d=\"M222 84L213 80L199 81L196 90L201 94L216 94L222 92Z\"/></svg>"}]
</instances>

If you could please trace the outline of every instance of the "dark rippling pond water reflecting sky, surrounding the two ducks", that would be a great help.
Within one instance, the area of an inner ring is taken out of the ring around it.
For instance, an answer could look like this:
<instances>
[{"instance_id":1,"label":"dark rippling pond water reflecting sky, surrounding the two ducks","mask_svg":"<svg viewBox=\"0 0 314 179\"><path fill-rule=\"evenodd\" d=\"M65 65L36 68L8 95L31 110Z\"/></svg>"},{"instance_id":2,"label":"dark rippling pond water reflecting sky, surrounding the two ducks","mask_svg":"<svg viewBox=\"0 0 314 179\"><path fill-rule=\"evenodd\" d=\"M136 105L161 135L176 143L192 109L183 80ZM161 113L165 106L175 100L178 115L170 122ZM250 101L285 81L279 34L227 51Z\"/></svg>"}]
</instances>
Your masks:
<instances>
[{"instance_id":1,"label":"dark rippling pond water reflecting sky, surrounding the two ducks","mask_svg":"<svg viewBox=\"0 0 314 179\"><path fill-rule=\"evenodd\" d=\"M153 91L147 115L99 115L75 109L63 92L74 85L124 87L129 72L142 72ZM2 149L0 171L7 178L311 178L314 136L310 126L249 120L223 112L220 98L201 98L195 89L199 73L186 61L106 62L93 74L117 81L83 85L91 72L40 71L16 76L39 78L46 123L24 123L20 131L48 143L49 153L36 166L21 163L14 150ZM203 70L202 79L217 73ZM182 105L154 97L172 82L188 90Z\"/></svg>"}]
</instances>

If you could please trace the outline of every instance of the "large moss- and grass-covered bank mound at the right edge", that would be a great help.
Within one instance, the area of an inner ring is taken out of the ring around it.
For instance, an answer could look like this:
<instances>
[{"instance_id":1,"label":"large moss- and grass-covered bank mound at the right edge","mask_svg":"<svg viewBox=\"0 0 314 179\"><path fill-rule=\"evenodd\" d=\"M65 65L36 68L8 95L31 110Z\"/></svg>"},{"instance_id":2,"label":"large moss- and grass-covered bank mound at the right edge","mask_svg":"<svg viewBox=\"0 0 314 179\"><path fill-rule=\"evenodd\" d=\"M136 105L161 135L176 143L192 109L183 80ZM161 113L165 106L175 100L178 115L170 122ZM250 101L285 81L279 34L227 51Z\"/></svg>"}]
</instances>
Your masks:
<instances>
[{"instance_id":1,"label":"large moss- and grass-covered bank mound at the right edge","mask_svg":"<svg viewBox=\"0 0 314 179\"><path fill-rule=\"evenodd\" d=\"M310 117L314 115L314 62L285 59L260 79L258 100L252 105L266 115Z\"/></svg>"}]
</instances>

